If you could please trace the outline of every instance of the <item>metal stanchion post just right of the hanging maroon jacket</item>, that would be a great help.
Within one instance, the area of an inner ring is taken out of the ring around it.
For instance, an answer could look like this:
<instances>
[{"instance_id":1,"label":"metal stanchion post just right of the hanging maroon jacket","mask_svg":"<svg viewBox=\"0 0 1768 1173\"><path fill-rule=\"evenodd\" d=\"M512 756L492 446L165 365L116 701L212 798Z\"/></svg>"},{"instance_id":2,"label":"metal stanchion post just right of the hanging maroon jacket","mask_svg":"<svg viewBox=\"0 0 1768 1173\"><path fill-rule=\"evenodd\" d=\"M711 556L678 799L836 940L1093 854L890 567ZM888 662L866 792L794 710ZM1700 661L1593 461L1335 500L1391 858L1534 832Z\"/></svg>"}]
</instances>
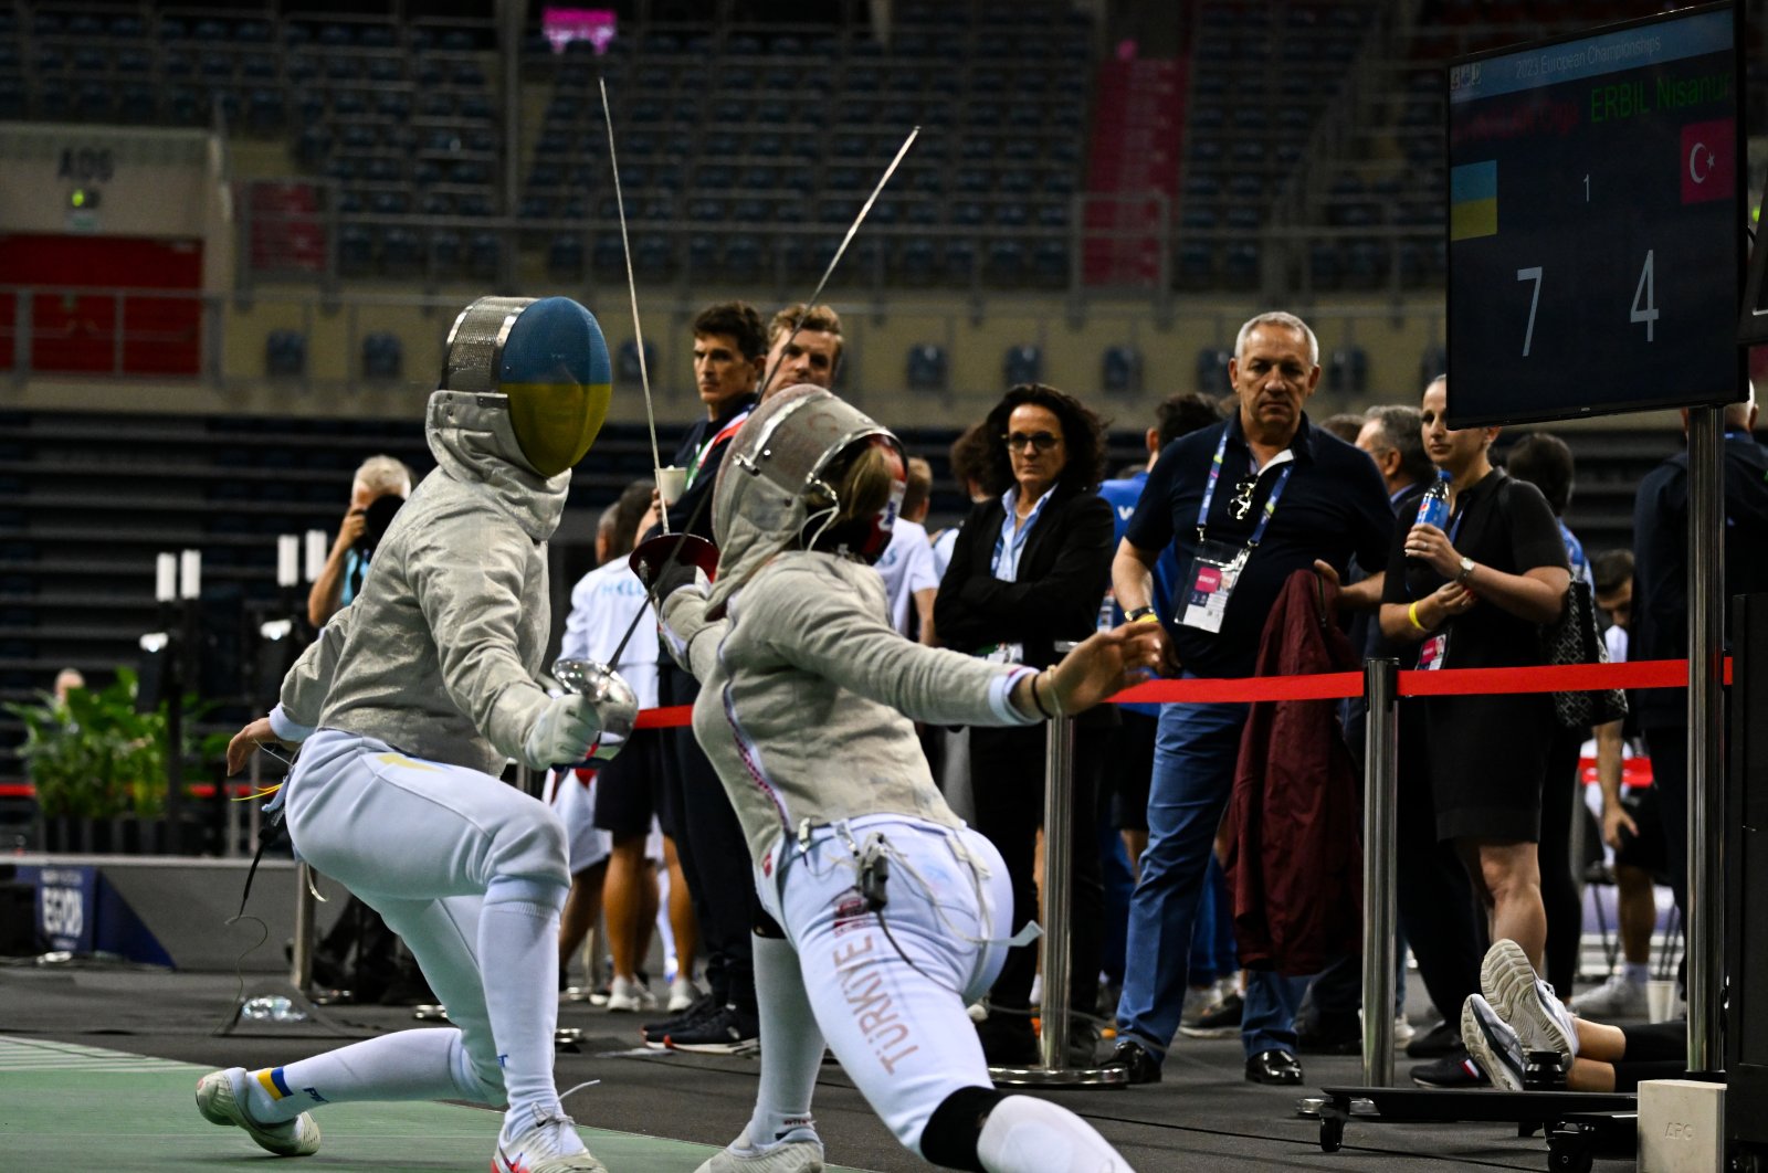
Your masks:
<instances>
[{"instance_id":1,"label":"metal stanchion post just right of the hanging maroon jacket","mask_svg":"<svg viewBox=\"0 0 1768 1173\"><path fill-rule=\"evenodd\" d=\"M1363 1085L1393 1085L1393 809L1398 661L1363 662Z\"/></svg>"}]
</instances>

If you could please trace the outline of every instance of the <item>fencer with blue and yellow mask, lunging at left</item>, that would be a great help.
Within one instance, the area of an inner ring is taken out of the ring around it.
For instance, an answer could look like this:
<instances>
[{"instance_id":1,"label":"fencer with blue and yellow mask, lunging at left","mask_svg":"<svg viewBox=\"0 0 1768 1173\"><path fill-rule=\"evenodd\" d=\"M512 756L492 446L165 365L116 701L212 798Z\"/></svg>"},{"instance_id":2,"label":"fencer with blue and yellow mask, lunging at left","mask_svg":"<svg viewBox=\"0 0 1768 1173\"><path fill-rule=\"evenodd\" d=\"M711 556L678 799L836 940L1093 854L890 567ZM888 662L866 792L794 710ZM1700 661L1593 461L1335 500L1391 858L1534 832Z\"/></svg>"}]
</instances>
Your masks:
<instances>
[{"instance_id":1,"label":"fencer with blue and yellow mask, lunging at left","mask_svg":"<svg viewBox=\"0 0 1768 1173\"><path fill-rule=\"evenodd\" d=\"M281 790L295 853L385 917L447 1005L283 1067L203 1076L196 1104L279 1155L318 1148L309 1108L341 1101L507 1104L492 1168L603 1166L553 1085L559 818L499 781L610 753L631 705L548 696L546 539L571 466L606 415L608 348L569 299L481 299L449 336L426 436L437 468L389 526L375 574L228 747L301 742ZM629 692L626 694L629 701Z\"/></svg>"}]
</instances>

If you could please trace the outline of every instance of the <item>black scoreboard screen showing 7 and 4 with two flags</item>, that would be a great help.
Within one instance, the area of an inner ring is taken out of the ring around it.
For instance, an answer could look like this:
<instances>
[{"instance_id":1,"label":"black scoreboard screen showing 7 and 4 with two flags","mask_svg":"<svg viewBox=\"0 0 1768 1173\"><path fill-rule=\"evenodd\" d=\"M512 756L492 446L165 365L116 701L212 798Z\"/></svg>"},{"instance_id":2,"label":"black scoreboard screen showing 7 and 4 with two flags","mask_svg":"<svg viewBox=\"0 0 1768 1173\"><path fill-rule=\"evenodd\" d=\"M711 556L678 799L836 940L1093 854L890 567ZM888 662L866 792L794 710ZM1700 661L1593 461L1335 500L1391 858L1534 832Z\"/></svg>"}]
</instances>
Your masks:
<instances>
[{"instance_id":1,"label":"black scoreboard screen showing 7 and 4 with two flags","mask_svg":"<svg viewBox=\"0 0 1768 1173\"><path fill-rule=\"evenodd\" d=\"M1457 428L1738 397L1740 79L1729 4L1450 65Z\"/></svg>"}]
</instances>

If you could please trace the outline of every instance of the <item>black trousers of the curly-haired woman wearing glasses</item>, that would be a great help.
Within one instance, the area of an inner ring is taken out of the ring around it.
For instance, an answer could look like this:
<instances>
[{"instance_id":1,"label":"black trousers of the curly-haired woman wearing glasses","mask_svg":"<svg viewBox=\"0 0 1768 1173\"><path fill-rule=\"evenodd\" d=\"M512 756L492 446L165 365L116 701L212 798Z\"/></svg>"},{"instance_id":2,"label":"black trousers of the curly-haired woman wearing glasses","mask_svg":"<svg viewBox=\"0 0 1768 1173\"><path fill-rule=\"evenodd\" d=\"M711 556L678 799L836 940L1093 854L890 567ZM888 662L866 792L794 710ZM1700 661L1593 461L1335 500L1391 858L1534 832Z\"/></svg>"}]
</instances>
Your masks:
<instances>
[{"instance_id":1,"label":"black trousers of the curly-haired woman wearing glasses","mask_svg":"<svg viewBox=\"0 0 1768 1173\"><path fill-rule=\"evenodd\" d=\"M1038 827L1043 823L1045 726L971 728L971 788L976 798L976 830L1006 860L1013 880L1013 931L1038 919L1038 887L1033 864ZM1091 1012L1098 1002L1100 942L1105 896L1100 880L1096 827L1098 777L1105 737L1110 730L1075 730L1073 851L1070 855L1070 1005ZM1031 1005L1031 980L1038 972L1038 943L1010 949L990 1000L1001 1007Z\"/></svg>"}]
</instances>

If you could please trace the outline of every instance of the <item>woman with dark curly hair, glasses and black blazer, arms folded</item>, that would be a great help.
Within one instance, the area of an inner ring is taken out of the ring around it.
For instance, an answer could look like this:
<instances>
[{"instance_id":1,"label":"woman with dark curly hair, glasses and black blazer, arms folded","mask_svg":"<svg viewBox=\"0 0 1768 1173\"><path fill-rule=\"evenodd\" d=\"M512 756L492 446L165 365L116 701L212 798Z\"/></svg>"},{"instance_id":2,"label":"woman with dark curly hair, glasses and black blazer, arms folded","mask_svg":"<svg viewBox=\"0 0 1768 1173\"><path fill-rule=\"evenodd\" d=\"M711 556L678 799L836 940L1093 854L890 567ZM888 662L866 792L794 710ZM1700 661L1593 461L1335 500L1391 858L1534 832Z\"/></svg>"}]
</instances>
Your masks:
<instances>
[{"instance_id":1,"label":"woman with dark curly hair, glasses and black blazer, arms folded","mask_svg":"<svg viewBox=\"0 0 1768 1173\"><path fill-rule=\"evenodd\" d=\"M1041 383L1013 387L983 424L987 500L964 519L951 565L934 602L934 625L949 648L985 661L1043 668L1057 641L1086 639L1098 627L1110 585L1110 505L1096 489L1105 463L1105 428L1073 396ZM1116 714L1078 723L1073 795L1073 1005L1094 1005L1100 972L1103 889L1094 795L1105 735ZM1015 931L1038 915L1034 851L1043 816L1040 795L1043 726L971 730L971 788L976 829L1006 860L1013 880ZM1013 949L978 1028L992 1063L1038 1062L1031 1030L1036 950ZM1082 1048L1091 1030L1077 1030ZM1091 1062L1091 1053L1082 1056Z\"/></svg>"}]
</instances>

